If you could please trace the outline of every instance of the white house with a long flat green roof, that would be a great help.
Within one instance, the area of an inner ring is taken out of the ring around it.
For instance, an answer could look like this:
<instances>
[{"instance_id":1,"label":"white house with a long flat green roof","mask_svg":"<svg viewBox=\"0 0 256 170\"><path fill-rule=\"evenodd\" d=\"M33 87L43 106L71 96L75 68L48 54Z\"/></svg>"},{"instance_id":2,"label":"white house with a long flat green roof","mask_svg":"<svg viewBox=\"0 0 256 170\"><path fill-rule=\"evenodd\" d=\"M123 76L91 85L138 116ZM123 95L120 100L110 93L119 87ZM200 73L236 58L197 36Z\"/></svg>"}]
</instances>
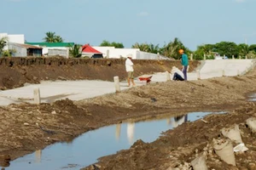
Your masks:
<instances>
[{"instance_id":1,"label":"white house with a long flat green roof","mask_svg":"<svg viewBox=\"0 0 256 170\"><path fill-rule=\"evenodd\" d=\"M26 44L43 48L44 56L60 55L68 58L69 48L73 47L74 42L26 42Z\"/></svg>"}]
</instances>

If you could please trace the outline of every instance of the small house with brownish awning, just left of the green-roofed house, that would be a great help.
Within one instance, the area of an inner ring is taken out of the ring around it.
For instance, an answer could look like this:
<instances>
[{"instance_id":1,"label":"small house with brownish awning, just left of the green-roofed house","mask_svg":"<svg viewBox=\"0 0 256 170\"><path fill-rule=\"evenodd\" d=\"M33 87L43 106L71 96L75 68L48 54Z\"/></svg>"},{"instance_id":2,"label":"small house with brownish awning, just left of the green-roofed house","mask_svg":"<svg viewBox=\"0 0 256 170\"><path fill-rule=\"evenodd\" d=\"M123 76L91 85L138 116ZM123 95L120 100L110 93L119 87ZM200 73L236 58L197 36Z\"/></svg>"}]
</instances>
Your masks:
<instances>
[{"instance_id":1,"label":"small house with brownish awning, just left of the green-roofed house","mask_svg":"<svg viewBox=\"0 0 256 170\"><path fill-rule=\"evenodd\" d=\"M8 43L8 49L13 57L41 57L43 48L22 43Z\"/></svg>"}]
</instances>

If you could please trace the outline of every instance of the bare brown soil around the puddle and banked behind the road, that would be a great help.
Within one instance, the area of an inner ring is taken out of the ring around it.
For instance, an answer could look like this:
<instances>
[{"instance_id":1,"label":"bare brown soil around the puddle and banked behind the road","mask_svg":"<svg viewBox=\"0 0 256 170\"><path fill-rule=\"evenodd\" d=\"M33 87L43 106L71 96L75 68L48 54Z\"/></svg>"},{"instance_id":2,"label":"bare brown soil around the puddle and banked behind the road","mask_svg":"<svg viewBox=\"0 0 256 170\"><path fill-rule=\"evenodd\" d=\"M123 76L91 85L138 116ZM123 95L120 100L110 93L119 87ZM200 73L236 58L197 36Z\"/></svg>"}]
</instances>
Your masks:
<instances>
[{"instance_id":1,"label":"bare brown soil around the puddle and banked behind the road","mask_svg":"<svg viewBox=\"0 0 256 170\"><path fill-rule=\"evenodd\" d=\"M90 66L89 64L58 66L45 63L44 65L11 65L11 67L2 65L0 72L5 74L1 75L0 82L3 83L1 86L15 88L36 79L27 79L29 75L37 77L38 80L46 77L105 80L112 80L113 76L125 77L124 60L119 59L120 63L118 59L113 59L110 66L96 65L103 62L103 59L96 60L96 63L94 60L86 60L88 63L93 63ZM67 63L69 62L71 61L67 60ZM108 60L105 63L107 64ZM137 75L148 74L150 71L166 71L170 65L174 64L180 66L178 61L170 61L170 63L137 61L136 71L138 71ZM191 67L193 68L194 65L195 68L197 64L192 63ZM38 69L42 70L38 71ZM21 74L24 70L26 74ZM2 76L9 77L8 83ZM17 77L20 77L19 81L16 80ZM135 118L138 121L145 116L154 117L167 112L177 114L190 111L229 111L228 114L207 116L204 118L207 123L201 120L186 122L172 131L167 131L160 139L150 144L139 140L131 146L130 150L121 150L116 155L102 157L97 167L100 169L172 169L174 167L182 169L187 166L186 162L195 159L195 150L198 150L198 154L203 151L207 153L209 169L253 169L256 164L256 137L251 135L245 120L255 116L256 107L253 102L248 102L246 97L248 93L256 92L255 81L256 71L252 71L243 77L154 83L75 103L65 99L56 101L52 105L22 104L0 107L0 163L43 149L58 141L72 140L91 129L125 121L128 118ZM153 102L151 98L155 98L156 101ZM220 135L220 129L235 123L239 125L242 140L249 150L246 153L236 154L237 166L232 167L220 161L214 152L211 154L211 151L212 139L223 138ZM91 169L91 167L85 169Z\"/></svg>"}]
</instances>

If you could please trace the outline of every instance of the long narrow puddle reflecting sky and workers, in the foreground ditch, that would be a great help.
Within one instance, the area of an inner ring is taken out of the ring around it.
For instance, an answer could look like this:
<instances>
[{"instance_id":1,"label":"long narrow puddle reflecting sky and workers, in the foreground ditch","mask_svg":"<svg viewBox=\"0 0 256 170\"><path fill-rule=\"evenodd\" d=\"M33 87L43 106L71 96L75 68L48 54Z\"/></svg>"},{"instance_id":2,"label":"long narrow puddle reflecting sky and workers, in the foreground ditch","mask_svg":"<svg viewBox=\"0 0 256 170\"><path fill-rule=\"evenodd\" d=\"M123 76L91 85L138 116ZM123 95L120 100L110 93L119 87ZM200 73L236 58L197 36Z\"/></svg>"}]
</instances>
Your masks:
<instances>
[{"instance_id":1,"label":"long narrow puddle reflecting sky and workers, in the foreground ditch","mask_svg":"<svg viewBox=\"0 0 256 170\"><path fill-rule=\"evenodd\" d=\"M44 150L11 161L7 170L80 169L97 161L101 156L129 149L137 139L153 142L160 133L183 122L193 122L212 112L193 112L185 116L165 116L144 122L123 122L90 131L70 143L52 144ZM1 167L1 166L0 166Z\"/></svg>"}]
</instances>

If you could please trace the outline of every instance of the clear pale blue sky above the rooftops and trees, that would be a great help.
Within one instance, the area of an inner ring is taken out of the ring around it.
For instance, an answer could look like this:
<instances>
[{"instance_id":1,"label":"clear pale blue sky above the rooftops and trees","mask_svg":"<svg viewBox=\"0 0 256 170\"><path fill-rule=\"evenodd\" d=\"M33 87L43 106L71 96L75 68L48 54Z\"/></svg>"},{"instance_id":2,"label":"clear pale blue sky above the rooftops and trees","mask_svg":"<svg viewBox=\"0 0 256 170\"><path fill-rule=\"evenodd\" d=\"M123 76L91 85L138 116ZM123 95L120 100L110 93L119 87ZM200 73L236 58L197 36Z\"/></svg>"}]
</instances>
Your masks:
<instances>
[{"instance_id":1,"label":"clear pale blue sky above the rooftops and trees","mask_svg":"<svg viewBox=\"0 0 256 170\"><path fill-rule=\"evenodd\" d=\"M178 37L204 43L256 43L256 0L0 0L0 32L42 42L55 31L66 42L102 40L164 45Z\"/></svg>"}]
</instances>

